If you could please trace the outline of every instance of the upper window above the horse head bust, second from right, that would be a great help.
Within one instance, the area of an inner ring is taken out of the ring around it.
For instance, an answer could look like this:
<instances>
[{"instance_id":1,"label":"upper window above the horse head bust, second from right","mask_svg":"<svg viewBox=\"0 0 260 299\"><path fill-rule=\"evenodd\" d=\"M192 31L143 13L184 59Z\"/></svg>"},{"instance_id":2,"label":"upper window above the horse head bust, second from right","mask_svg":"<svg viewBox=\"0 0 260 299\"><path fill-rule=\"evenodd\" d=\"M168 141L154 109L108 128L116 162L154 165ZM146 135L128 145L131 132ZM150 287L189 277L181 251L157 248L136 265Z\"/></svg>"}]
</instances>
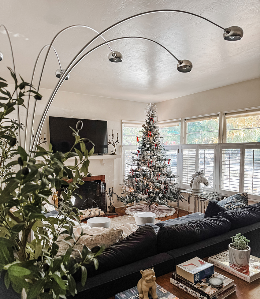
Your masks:
<instances>
[{"instance_id":1,"label":"upper window above the horse head bust, second from right","mask_svg":"<svg viewBox=\"0 0 260 299\"><path fill-rule=\"evenodd\" d=\"M218 143L219 115L185 120L186 144Z\"/></svg>"}]
</instances>

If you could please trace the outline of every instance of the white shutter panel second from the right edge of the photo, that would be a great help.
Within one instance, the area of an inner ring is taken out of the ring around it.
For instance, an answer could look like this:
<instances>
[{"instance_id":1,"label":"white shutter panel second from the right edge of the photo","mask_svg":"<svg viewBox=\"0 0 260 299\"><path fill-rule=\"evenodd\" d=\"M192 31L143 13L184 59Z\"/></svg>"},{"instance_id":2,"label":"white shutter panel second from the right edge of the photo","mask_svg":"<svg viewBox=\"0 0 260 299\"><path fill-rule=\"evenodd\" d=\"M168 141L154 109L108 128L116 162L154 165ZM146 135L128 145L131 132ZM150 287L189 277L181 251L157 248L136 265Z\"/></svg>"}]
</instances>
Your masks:
<instances>
[{"instance_id":1,"label":"white shutter panel second from the right edge of the photo","mask_svg":"<svg viewBox=\"0 0 260 299\"><path fill-rule=\"evenodd\" d=\"M240 190L240 148L222 148L221 151L221 190Z\"/></svg>"}]
</instances>

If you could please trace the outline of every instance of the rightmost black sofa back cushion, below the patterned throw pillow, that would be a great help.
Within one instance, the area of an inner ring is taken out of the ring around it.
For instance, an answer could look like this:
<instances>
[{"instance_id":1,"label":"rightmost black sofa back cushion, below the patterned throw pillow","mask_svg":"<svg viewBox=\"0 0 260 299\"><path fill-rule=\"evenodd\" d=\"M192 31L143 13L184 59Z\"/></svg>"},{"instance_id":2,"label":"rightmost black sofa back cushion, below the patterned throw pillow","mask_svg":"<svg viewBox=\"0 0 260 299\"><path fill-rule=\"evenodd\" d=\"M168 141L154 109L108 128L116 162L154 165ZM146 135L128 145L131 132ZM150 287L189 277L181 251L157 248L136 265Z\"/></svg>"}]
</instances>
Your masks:
<instances>
[{"instance_id":1,"label":"rightmost black sofa back cushion, below the patterned throw pillow","mask_svg":"<svg viewBox=\"0 0 260 299\"><path fill-rule=\"evenodd\" d=\"M231 230L260 221L260 203L218 214L231 222Z\"/></svg>"}]
</instances>

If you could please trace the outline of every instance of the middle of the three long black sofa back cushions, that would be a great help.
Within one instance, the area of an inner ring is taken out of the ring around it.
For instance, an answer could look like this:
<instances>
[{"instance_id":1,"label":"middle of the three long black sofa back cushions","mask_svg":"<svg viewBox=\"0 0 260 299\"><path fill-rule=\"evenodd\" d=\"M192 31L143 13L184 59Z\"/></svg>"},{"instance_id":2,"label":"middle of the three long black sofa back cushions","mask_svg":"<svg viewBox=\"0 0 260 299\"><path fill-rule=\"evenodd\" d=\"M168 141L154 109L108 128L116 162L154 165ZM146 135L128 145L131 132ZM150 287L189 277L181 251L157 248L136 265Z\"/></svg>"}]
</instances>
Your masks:
<instances>
[{"instance_id":1,"label":"middle of the three long black sofa back cushions","mask_svg":"<svg viewBox=\"0 0 260 299\"><path fill-rule=\"evenodd\" d=\"M220 216L160 227L157 252L167 252L227 232L231 223Z\"/></svg>"}]
</instances>

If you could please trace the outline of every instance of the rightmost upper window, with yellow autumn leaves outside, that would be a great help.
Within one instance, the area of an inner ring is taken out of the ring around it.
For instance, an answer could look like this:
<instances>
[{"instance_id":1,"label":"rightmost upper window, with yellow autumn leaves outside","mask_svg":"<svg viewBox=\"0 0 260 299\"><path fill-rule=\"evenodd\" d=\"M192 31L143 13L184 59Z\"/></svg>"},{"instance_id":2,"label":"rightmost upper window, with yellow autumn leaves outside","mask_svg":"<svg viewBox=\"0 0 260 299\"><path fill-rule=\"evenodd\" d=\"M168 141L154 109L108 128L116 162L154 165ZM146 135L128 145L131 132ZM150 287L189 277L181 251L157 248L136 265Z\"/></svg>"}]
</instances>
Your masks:
<instances>
[{"instance_id":1,"label":"rightmost upper window, with yellow autumn leaves outside","mask_svg":"<svg viewBox=\"0 0 260 299\"><path fill-rule=\"evenodd\" d=\"M226 113L225 142L260 142L260 111Z\"/></svg>"}]
</instances>

